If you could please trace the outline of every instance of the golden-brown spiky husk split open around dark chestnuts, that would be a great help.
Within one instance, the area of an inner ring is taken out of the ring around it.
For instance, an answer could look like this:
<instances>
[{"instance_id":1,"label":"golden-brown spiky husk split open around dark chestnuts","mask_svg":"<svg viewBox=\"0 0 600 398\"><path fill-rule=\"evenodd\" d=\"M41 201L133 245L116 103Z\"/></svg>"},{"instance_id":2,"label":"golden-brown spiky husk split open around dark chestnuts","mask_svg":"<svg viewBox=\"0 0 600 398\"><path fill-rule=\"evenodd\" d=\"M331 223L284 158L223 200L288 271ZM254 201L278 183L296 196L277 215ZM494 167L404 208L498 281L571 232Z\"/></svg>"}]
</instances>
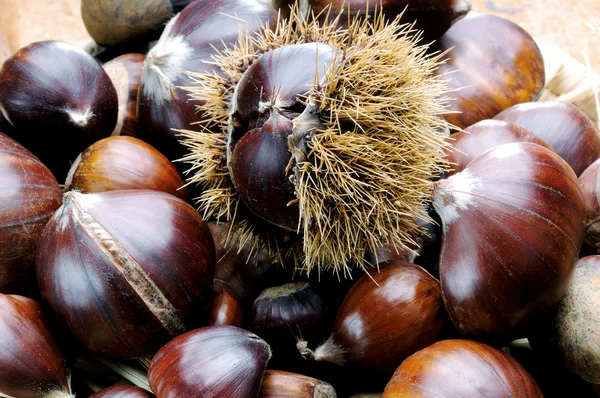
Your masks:
<instances>
[{"instance_id":1,"label":"golden-brown spiky husk split open around dark chestnuts","mask_svg":"<svg viewBox=\"0 0 600 398\"><path fill-rule=\"evenodd\" d=\"M432 73L444 54L427 55L412 25L400 25L401 16L357 17L347 29L337 27L341 17L319 23L293 9L289 20L275 29L264 26L254 37L240 29L238 43L213 57L222 74L190 73L197 84L190 95L203 102L198 110L207 119L200 131L182 134L189 148L183 160L191 163L188 181L204 189L198 198L204 216L233 221L243 236L273 245L276 236L261 236L243 219L229 177L235 85L249 65L275 48L322 42L341 49L342 59L332 62L305 98L316 107L320 127L295 129L302 145L290 140L290 152L301 217L297 265L306 272L317 267L347 275L351 264L367 267L364 254L380 246L414 247L416 219L430 221L425 209L432 179L447 168L440 131L449 126L441 117L448 89Z\"/></svg>"}]
</instances>

